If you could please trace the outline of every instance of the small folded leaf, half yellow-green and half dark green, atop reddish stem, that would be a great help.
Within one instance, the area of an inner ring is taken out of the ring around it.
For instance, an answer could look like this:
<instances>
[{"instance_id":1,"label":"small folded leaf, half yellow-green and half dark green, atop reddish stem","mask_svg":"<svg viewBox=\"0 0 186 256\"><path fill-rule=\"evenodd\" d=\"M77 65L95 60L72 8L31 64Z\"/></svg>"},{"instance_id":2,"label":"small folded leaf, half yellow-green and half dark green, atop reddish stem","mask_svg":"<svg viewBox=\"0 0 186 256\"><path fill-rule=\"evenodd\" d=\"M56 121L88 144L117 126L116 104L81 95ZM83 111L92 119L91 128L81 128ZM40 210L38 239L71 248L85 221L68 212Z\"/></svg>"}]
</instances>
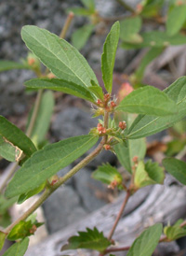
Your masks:
<instances>
[{"instance_id":1,"label":"small folded leaf, half yellow-green and half dark green, atop reddish stem","mask_svg":"<svg viewBox=\"0 0 186 256\"><path fill-rule=\"evenodd\" d=\"M157 163L148 161L144 164L140 161L135 172L134 184L137 189L140 189L157 183L163 184L164 178L164 169Z\"/></svg>"}]
</instances>

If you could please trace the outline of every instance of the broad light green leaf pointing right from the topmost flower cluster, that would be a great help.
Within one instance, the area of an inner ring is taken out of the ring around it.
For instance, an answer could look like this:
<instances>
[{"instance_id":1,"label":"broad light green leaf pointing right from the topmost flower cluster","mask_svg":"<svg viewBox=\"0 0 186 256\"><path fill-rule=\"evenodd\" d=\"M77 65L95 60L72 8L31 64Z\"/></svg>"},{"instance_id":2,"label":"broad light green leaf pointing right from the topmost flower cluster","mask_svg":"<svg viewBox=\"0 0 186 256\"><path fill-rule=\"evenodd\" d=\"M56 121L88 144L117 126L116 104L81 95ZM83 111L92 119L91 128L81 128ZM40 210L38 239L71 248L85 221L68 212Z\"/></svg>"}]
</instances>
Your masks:
<instances>
[{"instance_id":1,"label":"broad light green leaf pointing right from the topmost flower cluster","mask_svg":"<svg viewBox=\"0 0 186 256\"><path fill-rule=\"evenodd\" d=\"M176 112L176 104L166 93L153 86L145 86L129 93L116 109L130 113L166 116Z\"/></svg>"}]
</instances>

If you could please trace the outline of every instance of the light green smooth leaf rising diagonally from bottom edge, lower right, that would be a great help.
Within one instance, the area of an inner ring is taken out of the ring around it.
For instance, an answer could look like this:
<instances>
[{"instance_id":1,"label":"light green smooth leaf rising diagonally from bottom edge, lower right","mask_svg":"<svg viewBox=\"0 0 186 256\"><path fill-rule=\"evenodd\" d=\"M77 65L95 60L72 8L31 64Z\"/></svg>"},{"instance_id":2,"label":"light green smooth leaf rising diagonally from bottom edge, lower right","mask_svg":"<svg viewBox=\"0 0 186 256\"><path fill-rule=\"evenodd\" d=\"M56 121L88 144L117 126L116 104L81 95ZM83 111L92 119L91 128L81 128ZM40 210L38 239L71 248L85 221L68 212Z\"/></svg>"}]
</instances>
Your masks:
<instances>
[{"instance_id":1,"label":"light green smooth leaf rising diagonally from bottom edge, lower right","mask_svg":"<svg viewBox=\"0 0 186 256\"><path fill-rule=\"evenodd\" d=\"M143 231L134 241L126 256L152 256L162 235L162 224L158 223Z\"/></svg>"}]
</instances>

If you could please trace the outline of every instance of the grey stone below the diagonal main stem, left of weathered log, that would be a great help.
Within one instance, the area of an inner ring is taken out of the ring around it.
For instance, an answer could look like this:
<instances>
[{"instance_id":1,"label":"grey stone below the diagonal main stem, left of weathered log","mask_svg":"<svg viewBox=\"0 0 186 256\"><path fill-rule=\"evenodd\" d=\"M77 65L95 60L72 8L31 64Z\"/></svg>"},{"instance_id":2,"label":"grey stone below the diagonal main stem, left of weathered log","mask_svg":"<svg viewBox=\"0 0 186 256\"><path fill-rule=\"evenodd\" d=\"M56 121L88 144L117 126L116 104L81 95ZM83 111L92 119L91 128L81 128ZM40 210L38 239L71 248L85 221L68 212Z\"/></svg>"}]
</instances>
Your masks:
<instances>
[{"instance_id":1,"label":"grey stone below the diagonal main stem, left of weathered log","mask_svg":"<svg viewBox=\"0 0 186 256\"><path fill-rule=\"evenodd\" d=\"M70 186L60 187L46 199L43 205L49 234L86 217L80 198Z\"/></svg>"}]
</instances>

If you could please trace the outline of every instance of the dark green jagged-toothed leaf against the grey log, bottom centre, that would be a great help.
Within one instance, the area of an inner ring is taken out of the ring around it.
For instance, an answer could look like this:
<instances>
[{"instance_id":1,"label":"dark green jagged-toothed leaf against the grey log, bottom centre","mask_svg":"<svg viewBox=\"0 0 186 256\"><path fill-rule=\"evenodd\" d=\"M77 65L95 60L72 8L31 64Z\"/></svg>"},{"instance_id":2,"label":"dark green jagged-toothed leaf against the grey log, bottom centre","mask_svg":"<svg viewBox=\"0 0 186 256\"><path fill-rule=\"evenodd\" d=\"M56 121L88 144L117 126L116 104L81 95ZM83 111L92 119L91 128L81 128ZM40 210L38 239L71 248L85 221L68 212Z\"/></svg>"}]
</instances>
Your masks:
<instances>
[{"instance_id":1,"label":"dark green jagged-toothed leaf against the grey log, bottom centre","mask_svg":"<svg viewBox=\"0 0 186 256\"><path fill-rule=\"evenodd\" d=\"M78 232L78 236L73 235L70 237L68 244L64 245L61 250L96 249L101 252L110 245L111 242L95 227L93 230L86 228L86 232Z\"/></svg>"}]
</instances>

